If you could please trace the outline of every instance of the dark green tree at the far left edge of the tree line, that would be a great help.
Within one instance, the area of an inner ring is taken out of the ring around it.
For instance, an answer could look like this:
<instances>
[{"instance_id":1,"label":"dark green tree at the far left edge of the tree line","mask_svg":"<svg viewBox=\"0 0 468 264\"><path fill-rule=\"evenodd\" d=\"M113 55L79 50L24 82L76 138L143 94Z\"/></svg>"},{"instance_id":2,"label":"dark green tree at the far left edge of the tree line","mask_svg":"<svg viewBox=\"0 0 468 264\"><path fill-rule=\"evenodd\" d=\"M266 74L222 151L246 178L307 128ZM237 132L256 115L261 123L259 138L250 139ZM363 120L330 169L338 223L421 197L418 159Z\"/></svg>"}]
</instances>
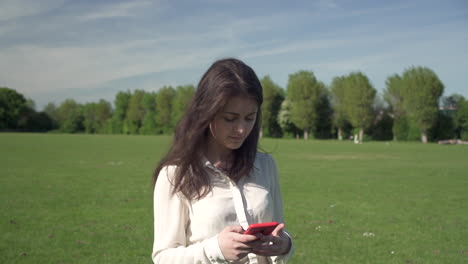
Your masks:
<instances>
[{"instance_id":1,"label":"dark green tree at the far left edge of the tree line","mask_svg":"<svg viewBox=\"0 0 468 264\"><path fill-rule=\"evenodd\" d=\"M26 99L22 94L0 87L0 129L16 129L26 108Z\"/></svg>"}]
</instances>

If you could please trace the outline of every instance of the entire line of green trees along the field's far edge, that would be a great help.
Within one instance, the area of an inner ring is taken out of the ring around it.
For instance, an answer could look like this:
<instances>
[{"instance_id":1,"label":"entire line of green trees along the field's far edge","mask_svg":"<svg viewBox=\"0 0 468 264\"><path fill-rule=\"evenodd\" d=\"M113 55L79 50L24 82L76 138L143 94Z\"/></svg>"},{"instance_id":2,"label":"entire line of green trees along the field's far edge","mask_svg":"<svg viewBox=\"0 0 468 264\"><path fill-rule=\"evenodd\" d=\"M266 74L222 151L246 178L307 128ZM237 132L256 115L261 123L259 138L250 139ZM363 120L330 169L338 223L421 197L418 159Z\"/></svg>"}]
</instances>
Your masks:
<instances>
[{"instance_id":1,"label":"entire line of green trees along the field's far edge","mask_svg":"<svg viewBox=\"0 0 468 264\"><path fill-rule=\"evenodd\" d=\"M444 85L427 67L411 67L387 78L377 94L362 72L333 78L326 86L311 71L289 75L286 89L269 76L264 94L262 135L267 137L359 140L468 140L468 100L442 97ZM0 88L0 130L99 134L171 134L195 93L193 85L164 86L157 92L120 91L106 100L47 104Z\"/></svg>"}]
</instances>

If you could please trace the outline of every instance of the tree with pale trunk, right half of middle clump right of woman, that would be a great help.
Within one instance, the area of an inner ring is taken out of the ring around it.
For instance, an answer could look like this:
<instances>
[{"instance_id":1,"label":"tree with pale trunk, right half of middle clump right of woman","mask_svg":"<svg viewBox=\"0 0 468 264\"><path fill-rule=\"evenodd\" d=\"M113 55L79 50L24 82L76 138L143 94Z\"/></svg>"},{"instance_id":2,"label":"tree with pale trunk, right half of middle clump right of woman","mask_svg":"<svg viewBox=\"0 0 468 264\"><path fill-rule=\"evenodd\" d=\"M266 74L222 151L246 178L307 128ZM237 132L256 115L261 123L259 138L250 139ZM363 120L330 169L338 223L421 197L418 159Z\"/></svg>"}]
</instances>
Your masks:
<instances>
[{"instance_id":1,"label":"tree with pale trunk, right half of middle clump right of woman","mask_svg":"<svg viewBox=\"0 0 468 264\"><path fill-rule=\"evenodd\" d=\"M364 129L374 121L372 105L376 91L366 75L361 72L350 73L346 77L345 111L354 128L359 129L359 141L362 142Z\"/></svg>"}]
</instances>

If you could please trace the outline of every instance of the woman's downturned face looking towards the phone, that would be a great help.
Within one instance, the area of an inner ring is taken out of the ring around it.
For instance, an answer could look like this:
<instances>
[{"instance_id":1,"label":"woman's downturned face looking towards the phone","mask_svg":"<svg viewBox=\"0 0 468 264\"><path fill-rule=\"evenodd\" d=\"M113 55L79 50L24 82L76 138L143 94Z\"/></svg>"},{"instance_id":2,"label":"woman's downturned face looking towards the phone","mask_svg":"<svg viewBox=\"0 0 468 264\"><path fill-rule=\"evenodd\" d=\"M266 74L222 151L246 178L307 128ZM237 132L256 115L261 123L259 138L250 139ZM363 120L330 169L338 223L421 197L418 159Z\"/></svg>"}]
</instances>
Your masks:
<instances>
[{"instance_id":1,"label":"woman's downturned face looking towards the phone","mask_svg":"<svg viewBox=\"0 0 468 264\"><path fill-rule=\"evenodd\" d=\"M211 135L222 148L238 149L252 131L258 104L248 97L231 97L210 124Z\"/></svg>"}]
</instances>

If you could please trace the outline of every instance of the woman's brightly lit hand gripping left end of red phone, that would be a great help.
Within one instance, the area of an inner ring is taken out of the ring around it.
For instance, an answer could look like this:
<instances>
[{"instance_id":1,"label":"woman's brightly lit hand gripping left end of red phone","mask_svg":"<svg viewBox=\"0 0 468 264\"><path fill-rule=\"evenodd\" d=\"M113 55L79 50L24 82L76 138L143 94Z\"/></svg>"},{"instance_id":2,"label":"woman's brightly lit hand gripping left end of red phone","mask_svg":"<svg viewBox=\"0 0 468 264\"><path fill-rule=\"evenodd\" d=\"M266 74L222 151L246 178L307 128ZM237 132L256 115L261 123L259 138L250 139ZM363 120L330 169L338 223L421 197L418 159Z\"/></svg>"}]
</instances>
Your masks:
<instances>
[{"instance_id":1,"label":"woman's brightly lit hand gripping left end of red phone","mask_svg":"<svg viewBox=\"0 0 468 264\"><path fill-rule=\"evenodd\" d=\"M218 234L218 244L226 260L239 260L261 245L261 235L244 235L242 226L228 226Z\"/></svg>"}]
</instances>

